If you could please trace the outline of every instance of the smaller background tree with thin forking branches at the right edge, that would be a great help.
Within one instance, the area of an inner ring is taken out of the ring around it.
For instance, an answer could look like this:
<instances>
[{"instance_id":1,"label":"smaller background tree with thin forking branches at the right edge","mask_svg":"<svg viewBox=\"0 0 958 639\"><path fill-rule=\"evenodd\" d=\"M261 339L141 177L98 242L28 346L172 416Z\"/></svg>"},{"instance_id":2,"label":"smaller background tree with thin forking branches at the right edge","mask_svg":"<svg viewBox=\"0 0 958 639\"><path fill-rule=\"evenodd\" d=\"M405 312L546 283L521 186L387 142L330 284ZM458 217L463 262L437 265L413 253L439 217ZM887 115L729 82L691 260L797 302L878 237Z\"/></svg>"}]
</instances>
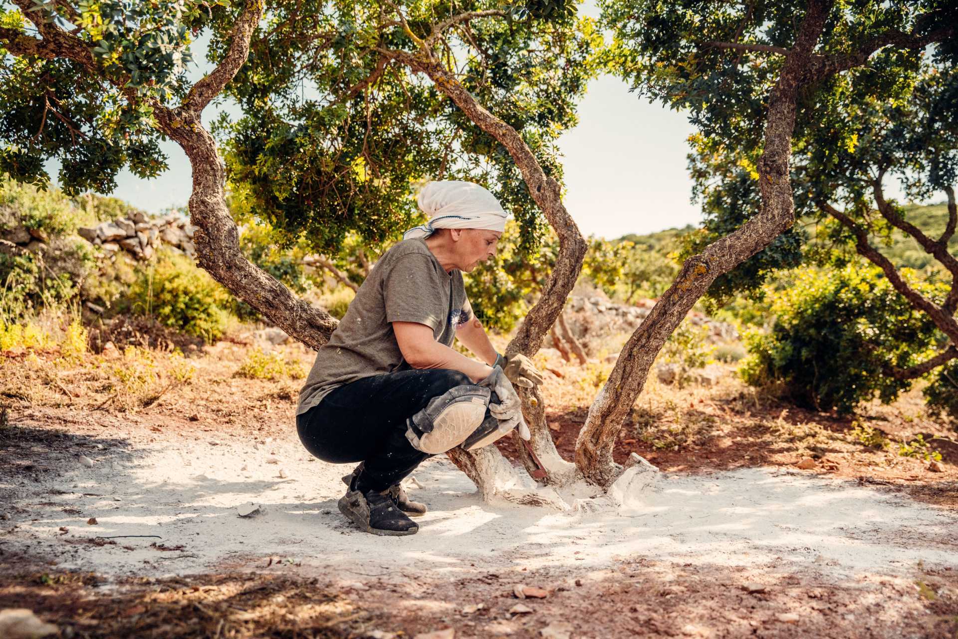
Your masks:
<instances>
[{"instance_id":1,"label":"smaller background tree with thin forking branches at the right edge","mask_svg":"<svg viewBox=\"0 0 958 639\"><path fill-rule=\"evenodd\" d=\"M940 375L941 367L958 357L958 259L949 249L958 209L954 185L958 180L958 70L954 51L939 46L930 51L884 50L868 67L833 78L810 98L810 108L799 120L793 139L791 176L795 215L814 233L794 233L777 252L744 262L710 290L718 298L754 288L777 269L803 260L841 267L849 254L864 257L878 267L900 305L923 317L924 334L914 349L889 351L883 335L862 346L855 360L842 363L868 378L855 384L851 396L840 401L844 410L880 396L895 399L911 380L936 372L943 385L939 395L954 386ZM757 149L737 146L720 136L696 137L691 156L696 190L707 214L704 237L741 223L758 206ZM941 197L947 201L947 222L938 229L921 228L907 208L887 195L899 182L912 199ZM913 240L935 267L925 280L947 279L941 296L929 295L906 275L883 248L900 234ZM780 238L780 240L784 239ZM811 240L811 241L810 241ZM863 300L864 302L864 300ZM860 321L870 321L869 308L859 308ZM782 333L781 329L777 329ZM824 340L826 337L822 335ZM780 334L778 339L785 339ZM937 353L926 354L924 343L937 342ZM820 354L827 352L819 349ZM825 364L825 362L822 362ZM809 381L809 384L812 382ZM813 385L813 384L812 384ZM802 392L821 395L809 386ZM832 404L832 402L827 402Z\"/></svg>"}]
</instances>

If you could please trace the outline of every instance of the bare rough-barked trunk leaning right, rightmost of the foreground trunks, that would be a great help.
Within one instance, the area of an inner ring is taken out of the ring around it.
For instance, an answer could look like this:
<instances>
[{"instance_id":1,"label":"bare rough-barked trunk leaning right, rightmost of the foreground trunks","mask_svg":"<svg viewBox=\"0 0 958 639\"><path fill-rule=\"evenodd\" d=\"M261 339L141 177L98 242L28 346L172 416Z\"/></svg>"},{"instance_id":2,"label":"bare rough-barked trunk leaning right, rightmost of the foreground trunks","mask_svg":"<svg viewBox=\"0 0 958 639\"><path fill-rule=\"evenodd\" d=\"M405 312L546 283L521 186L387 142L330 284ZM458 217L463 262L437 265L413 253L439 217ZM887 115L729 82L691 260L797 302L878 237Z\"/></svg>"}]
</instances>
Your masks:
<instances>
[{"instance_id":1,"label":"bare rough-barked trunk leaning right, rightmost of the foreground trunks","mask_svg":"<svg viewBox=\"0 0 958 639\"><path fill-rule=\"evenodd\" d=\"M620 472L612 460L616 436L642 392L655 355L719 275L761 251L795 221L788 162L799 87L810 77L810 54L825 25L830 2L812 0L794 48L772 89L765 119L765 146L759 161L762 208L738 230L709 244L682 264L673 284L632 333L598 397L589 408L576 442L576 466L587 481L611 484Z\"/></svg>"}]
</instances>

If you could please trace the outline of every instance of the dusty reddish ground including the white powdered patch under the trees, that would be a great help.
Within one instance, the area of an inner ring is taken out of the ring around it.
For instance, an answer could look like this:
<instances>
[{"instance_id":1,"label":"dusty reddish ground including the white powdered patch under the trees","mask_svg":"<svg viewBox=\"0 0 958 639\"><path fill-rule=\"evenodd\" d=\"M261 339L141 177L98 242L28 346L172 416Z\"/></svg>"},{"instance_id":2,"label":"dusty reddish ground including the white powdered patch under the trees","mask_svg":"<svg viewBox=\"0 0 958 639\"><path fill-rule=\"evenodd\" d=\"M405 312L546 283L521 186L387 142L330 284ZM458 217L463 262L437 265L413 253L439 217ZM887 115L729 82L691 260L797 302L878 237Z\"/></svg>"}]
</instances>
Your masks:
<instances>
[{"instance_id":1,"label":"dusty reddish ground including the white powdered patch under the trees","mask_svg":"<svg viewBox=\"0 0 958 639\"><path fill-rule=\"evenodd\" d=\"M420 534L380 538L335 512L342 468L298 447L301 382L235 377L249 354L220 343L192 378L162 353L0 360L3 607L64 637L958 636L958 447L916 396L853 422L731 377L653 381L617 455L664 473L629 508L487 505L435 461ZM568 455L605 365L553 366ZM928 450L901 456L919 434ZM247 500L262 515L238 518Z\"/></svg>"}]
</instances>

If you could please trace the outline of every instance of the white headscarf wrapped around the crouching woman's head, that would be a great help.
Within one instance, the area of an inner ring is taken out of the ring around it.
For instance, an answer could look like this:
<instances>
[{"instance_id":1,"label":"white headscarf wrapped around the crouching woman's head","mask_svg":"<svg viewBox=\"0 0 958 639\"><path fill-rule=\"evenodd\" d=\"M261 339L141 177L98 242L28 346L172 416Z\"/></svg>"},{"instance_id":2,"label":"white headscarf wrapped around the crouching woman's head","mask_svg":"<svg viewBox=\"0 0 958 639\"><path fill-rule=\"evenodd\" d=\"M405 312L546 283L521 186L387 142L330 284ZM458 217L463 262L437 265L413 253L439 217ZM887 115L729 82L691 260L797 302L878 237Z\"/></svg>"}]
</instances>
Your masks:
<instances>
[{"instance_id":1,"label":"white headscarf wrapped around the crouching woman's head","mask_svg":"<svg viewBox=\"0 0 958 639\"><path fill-rule=\"evenodd\" d=\"M417 202L429 221L403 233L403 240L427 238L436 229L486 229L501 233L509 215L489 191L461 180L429 182L422 187Z\"/></svg>"}]
</instances>

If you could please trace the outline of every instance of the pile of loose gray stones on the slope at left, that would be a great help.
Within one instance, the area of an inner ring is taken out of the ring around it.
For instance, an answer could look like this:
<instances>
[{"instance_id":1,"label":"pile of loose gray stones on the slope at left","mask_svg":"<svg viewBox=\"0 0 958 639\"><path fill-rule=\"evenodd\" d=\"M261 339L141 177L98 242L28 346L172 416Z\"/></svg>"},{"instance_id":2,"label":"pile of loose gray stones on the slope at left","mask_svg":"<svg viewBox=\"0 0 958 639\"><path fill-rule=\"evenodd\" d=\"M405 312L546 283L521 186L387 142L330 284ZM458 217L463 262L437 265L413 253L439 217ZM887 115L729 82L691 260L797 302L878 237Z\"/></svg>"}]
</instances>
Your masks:
<instances>
[{"instance_id":1,"label":"pile of loose gray stones on the slope at left","mask_svg":"<svg viewBox=\"0 0 958 639\"><path fill-rule=\"evenodd\" d=\"M137 211L130 217L83 227L77 232L84 240L102 247L108 255L123 251L137 260L149 260L161 244L192 258L196 253L194 230L190 221L178 214L150 218Z\"/></svg>"}]
</instances>

